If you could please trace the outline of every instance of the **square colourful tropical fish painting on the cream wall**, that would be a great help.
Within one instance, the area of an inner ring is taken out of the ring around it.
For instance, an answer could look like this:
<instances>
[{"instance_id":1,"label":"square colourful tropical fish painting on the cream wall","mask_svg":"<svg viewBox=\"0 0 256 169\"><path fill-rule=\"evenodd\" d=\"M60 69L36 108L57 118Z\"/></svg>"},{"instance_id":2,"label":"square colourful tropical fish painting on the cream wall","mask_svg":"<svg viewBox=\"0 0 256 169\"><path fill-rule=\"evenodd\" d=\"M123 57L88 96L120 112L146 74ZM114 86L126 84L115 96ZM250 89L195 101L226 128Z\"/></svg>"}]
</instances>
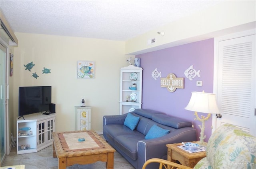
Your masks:
<instances>
[{"instance_id":1,"label":"square colourful tropical fish painting on the cream wall","mask_svg":"<svg viewBox=\"0 0 256 169\"><path fill-rule=\"evenodd\" d=\"M78 61L77 78L94 78L94 62Z\"/></svg>"}]
</instances>

